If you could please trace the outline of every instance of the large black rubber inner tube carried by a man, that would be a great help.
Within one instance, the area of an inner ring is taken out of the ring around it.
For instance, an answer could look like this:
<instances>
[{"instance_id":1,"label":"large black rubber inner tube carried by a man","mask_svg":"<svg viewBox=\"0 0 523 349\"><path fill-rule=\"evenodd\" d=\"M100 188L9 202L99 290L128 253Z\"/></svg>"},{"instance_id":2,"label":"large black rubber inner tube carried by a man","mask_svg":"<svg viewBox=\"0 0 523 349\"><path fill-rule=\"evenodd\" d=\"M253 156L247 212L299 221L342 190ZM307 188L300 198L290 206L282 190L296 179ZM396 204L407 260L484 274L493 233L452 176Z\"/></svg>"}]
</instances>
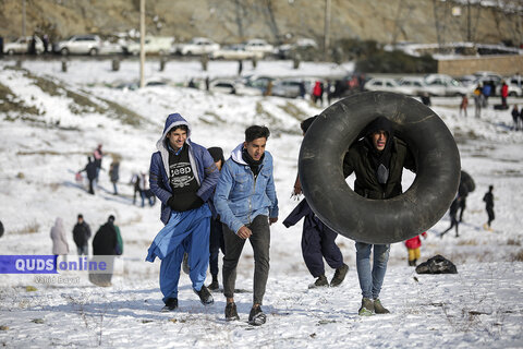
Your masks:
<instances>
[{"instance_id":1,"label":"large black rubber inner tube carried by a man","mask_svg":"<svg viewBox=\"0 0 523 349\"><path fill-rule=\"evenodd\" d=\"M369 200L343 178L349 146L377 117L396 127L416 160L416 178L403 194ZM449 208L460 181L460 154L445 122L427 106L393 93L368 92L342 99L308 129L300 149L302 189L315 214L336 232L355 241L385 244L415 237Z\"/></svg>"}]
</instances>

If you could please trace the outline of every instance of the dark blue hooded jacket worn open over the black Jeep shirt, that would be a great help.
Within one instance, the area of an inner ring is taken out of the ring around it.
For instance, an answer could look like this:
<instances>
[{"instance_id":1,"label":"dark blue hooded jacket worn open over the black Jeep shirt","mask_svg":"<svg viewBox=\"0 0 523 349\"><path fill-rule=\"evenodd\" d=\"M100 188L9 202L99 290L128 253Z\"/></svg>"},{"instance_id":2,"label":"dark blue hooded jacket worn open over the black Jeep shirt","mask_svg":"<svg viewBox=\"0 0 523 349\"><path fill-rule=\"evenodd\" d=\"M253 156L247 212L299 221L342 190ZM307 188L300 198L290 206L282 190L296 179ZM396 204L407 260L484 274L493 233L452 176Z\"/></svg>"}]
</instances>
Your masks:
<instances>
[{"instance_id":1,"label":"dark blue hooded jacket worn open over the black Jeep shirt","mask_svg":"<svg viewBox=\"0 0 523 349\"><path fill-rule=\"evenodd\" d=\"M220 171L215 165L209 152L202 145L191 142L191 125L179 113L171 113L166 120L163 133L156 143L158 152L154 153L150 158L149 169L149 186L155 195L161 201L161 221L167 225L171 217L171 207L167 204L169 197L172 196L171 185L169 184L169 151L166 144L166 135L173 127L184 124L187 127L187 141L184 146L188 145L188 159L194 170L199 190L196 195L207 202L215 190L216 183L220 177Z\"/></svg>"}]
</instances>

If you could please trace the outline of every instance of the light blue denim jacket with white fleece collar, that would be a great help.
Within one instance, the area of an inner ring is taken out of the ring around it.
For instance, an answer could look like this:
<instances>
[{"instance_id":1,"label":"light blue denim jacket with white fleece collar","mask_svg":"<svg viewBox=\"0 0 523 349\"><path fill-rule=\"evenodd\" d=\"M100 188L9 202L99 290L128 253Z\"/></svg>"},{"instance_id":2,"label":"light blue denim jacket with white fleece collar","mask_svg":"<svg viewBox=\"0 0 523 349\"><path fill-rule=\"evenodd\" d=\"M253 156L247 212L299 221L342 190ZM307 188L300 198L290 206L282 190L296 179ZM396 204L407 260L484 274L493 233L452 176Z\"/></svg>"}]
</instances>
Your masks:
<instances>
[{"instance_id":1,"label":"light blue denim jacket with white fleece collar","mask_svg":"<svg viewBox=\"0 0 523 349\"><path fill-rule=\"evenodd\" d=\"M214 197L220 220L232 231L251 224L256 216L278 217L278 198L272 177L272 156L265 152L262 169L256 180L242 158L243 144L232 151L221 168L220 180Z\"/></svg>"}]
</instances>

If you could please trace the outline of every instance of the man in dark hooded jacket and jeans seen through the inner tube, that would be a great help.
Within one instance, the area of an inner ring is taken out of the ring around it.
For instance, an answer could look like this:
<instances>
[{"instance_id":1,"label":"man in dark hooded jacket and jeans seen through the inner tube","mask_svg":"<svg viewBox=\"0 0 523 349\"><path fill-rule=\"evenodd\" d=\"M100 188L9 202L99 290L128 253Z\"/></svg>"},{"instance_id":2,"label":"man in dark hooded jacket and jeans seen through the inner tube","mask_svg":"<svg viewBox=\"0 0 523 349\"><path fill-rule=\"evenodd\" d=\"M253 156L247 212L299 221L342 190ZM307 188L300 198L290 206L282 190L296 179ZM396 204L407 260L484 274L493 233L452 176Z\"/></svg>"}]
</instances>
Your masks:
<instances>
[{"instance_id":1,"label":"man in dark hooded jacket and jeans seen through the inner tube","mask_svg":"<svg viewBox=\"0 0 523 349\"><path fill-rule=\"evenodd\" d=\"M406 144L394 137L393 124L385 117L372 121L365 136L354 142L343 159L343 174L355 173L354 191L370 200L386 200L402 193L403 167L415 171L415 160ZM370 269L370 250L374 263ZM390 244L368 244L356 241L356 269L362 288L362 316L387 314L379 300Z\"/></svg>"}]
</instances>

